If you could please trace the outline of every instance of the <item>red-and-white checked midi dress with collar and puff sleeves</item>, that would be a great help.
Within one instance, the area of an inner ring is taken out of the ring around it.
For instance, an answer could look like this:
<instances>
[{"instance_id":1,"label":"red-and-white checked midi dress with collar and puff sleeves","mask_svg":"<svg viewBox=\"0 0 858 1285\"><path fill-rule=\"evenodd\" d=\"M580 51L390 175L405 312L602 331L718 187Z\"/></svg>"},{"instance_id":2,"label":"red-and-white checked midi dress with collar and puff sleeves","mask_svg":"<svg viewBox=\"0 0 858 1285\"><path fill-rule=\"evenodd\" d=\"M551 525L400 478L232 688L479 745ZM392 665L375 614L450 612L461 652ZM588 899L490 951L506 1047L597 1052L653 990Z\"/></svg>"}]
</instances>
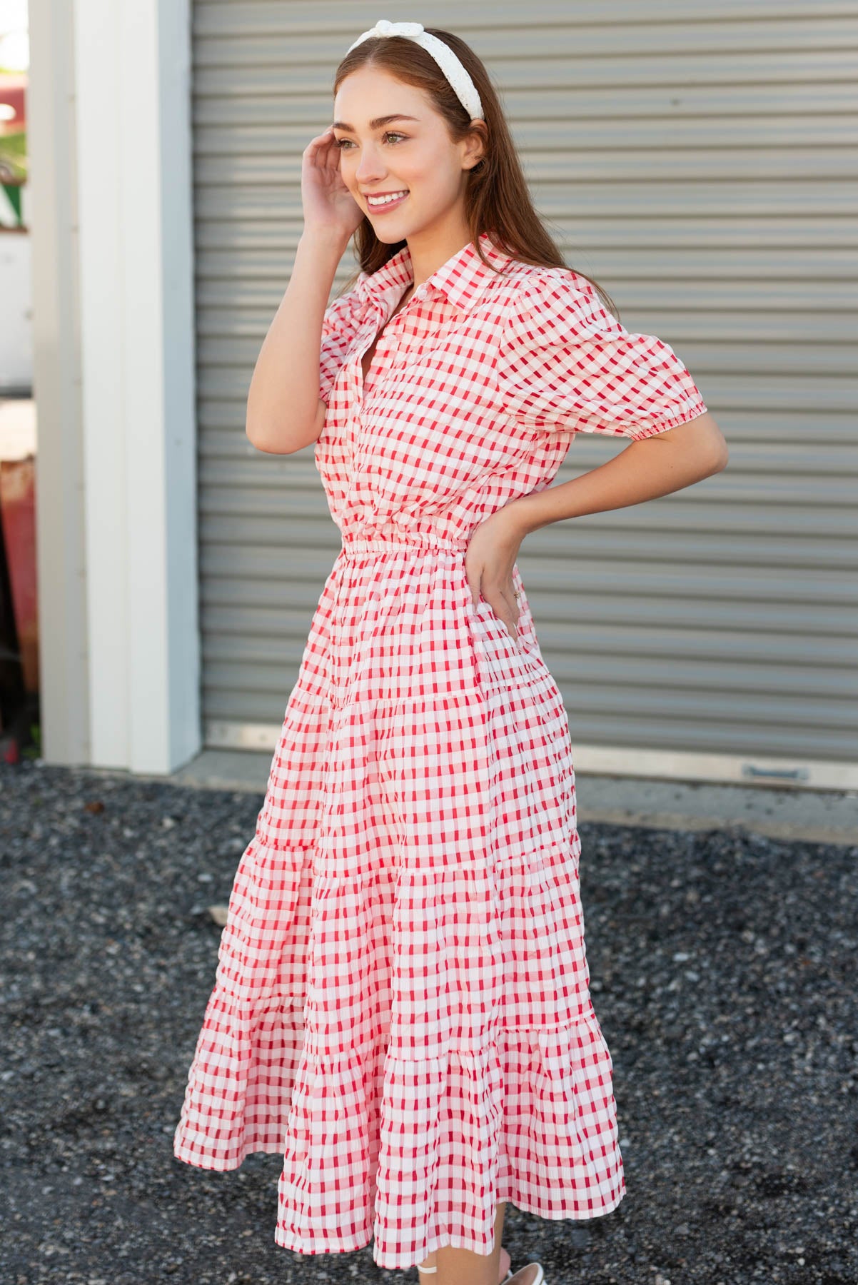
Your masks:
<instances>
[{"instance_id":1,"label":"red-and-white checked midi dress with collar and puff sleeves","mask_svg":"<svg viewBox=\"0 0 858 1285\"><path fill-rule=\"evenodd\" d=\"M590 998L569 723L524 585L518 642L470 533L574 433L705 406L590 283L487 235L420 284L407 247L325 314L315 457L343 547L240 860L175 1155L281 1153L275 1241L380 1267L480 1254L495 1207L591 1218L626 1190ZM505 270L498 274L496 270Z\"/></svg>"}]
</instances>

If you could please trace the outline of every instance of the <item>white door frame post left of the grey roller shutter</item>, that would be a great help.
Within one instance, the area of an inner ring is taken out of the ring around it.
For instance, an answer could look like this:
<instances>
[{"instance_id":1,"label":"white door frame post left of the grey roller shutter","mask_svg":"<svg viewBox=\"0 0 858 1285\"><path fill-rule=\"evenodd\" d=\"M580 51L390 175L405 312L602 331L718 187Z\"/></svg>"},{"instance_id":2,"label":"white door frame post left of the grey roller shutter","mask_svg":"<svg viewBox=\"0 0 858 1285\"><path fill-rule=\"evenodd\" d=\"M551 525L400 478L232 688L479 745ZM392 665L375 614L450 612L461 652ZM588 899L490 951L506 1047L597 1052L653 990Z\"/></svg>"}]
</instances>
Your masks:
<instances>
[{"instance_id":1,"label":"white door frame post left of the grey roller shutter","mask_svg":"<svg viewBox=\"0 0 858 1285\"><path fill-rule=\"evenodd\" d=\"M31 0L42 753L200 748L190 0Z\"/></svg>"}]
</instances>

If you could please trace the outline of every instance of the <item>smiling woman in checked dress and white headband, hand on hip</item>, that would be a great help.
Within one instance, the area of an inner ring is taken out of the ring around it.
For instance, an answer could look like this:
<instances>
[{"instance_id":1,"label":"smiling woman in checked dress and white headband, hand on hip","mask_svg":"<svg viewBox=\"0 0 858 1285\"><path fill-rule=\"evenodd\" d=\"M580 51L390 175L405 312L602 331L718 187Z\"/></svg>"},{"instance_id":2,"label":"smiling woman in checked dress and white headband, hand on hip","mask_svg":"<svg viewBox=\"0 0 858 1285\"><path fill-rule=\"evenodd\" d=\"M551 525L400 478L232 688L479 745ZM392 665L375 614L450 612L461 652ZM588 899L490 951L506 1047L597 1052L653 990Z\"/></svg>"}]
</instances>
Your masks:
<instances>
[{"instance_id":1,"label":"smiling woman in checked dress and white headband, hand on hip","mask_svg":"<svg viewBox=\"0 0 858 1285\"><path fill-rule=\"evenodd\" d=\"M539 1285L538 1263L507 1275L506 1201L592 1218L624 1181L569 725L516 555L548 523L709 477L727 450L673 351L564 263L464 41L379 23L334 91L247 433L274 454L315 443L343 549L235 876L175 1154L231 1169L283 1153L275 1240L299 1253L372 1241L379 1266L435 1285ZM360 275L328 306L352 236ZM578 432L629 443L551 487Z\"/></svg>"}]
</instances>

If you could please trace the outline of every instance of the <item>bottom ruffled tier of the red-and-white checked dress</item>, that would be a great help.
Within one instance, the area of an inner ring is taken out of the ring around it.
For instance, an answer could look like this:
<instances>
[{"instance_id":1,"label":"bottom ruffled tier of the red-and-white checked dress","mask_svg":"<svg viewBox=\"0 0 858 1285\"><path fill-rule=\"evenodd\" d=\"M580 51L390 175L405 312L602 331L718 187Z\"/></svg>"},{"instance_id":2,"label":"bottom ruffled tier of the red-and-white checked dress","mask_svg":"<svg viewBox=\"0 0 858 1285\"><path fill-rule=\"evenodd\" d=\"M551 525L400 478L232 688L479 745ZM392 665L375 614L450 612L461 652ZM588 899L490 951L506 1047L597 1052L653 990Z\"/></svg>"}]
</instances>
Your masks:
<instances>
[{"instance_id":1,"label":"bottom ruffled tier of the red-and-white checked dress","mask_svg":"<svg viewBox=\"0 0 858 1285\"><path fill-rule=\"evenodd\" d=\"M302 1065L302 1043L297 997L272 1000L253 1033L249 1022L231 1036L209 1027L173 1144L177 1159L220 1171L280 1151L281 1248L372 1243L379 1267L405 1270L443 1245L491 1253L501 1200L581 1219L623 1198L613 1065L592 1006L561 1029L498 1031L479 1051L423 1060L379 1037Z\"/></svg>"}]
</instances>

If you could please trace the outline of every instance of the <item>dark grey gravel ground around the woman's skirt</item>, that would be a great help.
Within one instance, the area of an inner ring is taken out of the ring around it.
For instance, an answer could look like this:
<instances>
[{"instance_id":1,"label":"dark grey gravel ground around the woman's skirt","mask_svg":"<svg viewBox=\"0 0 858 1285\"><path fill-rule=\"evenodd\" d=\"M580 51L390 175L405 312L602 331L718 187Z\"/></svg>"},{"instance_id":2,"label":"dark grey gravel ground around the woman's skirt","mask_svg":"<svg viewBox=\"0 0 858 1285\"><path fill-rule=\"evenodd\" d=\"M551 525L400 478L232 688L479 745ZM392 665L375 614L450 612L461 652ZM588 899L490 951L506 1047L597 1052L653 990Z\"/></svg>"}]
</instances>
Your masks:
<instances>
[{"instance_id":1,"label":"dark grey gravel ground around the woman's skirt","mask_svg":"<svg viewBox=\"0 0 858 1285\"><path fill-rule=\"evenodd\" d=\"M583 797L587 785L579 780ZM380 1281L371 1246L274 1244L276 1155L213 1173L172 1133L262 795L0 763L3 1285ZM507 1205L547 1285L855 1285L858 847L582 824L627 1194Z\"/></svg>"}]
</instances>

